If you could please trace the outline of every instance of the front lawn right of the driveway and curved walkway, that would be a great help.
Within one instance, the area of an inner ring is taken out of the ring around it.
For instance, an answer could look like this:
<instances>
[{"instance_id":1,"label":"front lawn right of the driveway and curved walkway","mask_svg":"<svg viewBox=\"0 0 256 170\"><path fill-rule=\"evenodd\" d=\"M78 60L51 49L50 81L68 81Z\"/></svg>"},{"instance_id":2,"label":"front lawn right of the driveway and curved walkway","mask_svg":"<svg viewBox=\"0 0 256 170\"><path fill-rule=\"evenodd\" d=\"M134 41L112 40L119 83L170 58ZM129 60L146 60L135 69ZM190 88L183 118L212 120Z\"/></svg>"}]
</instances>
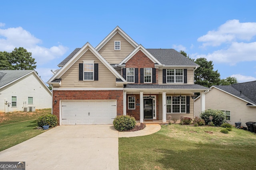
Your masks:
<instances>
[{"instance_id":1,"label":"front lawn right of the driveway and curved walkway","mask_svg":"<svg viewBox=\"0 0 256 170\"><path fill-rule=\"evenodd\" d=\"M119 138L119 169L255 169L256 135L221 129L172 124L152 135Z\"/></svg>"}]
</instances>

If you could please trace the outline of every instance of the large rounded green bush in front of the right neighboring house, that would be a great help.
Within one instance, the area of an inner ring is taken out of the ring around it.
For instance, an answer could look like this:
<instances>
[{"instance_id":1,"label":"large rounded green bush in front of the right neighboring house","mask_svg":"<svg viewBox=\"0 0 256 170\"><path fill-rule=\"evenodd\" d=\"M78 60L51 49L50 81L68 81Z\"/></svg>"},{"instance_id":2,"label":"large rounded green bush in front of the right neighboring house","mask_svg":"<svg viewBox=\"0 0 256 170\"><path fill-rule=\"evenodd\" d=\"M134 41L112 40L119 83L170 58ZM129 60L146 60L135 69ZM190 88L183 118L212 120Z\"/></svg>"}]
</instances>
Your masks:
<instances>
[{"instance_id":1,"label":"large rounded green bush in front of the right neighboring house","mask_svg":"<svg viewBox=\"0 0 256 170\"><path fill-rule=\"evenodd\" d=\"M217 109L207 109L200 114L200 118L204 119L206 124L211 122L210 116L212 116L212 123L216 126L220 126L225 120L223 111Z\"/></svg>"}]
</instances>

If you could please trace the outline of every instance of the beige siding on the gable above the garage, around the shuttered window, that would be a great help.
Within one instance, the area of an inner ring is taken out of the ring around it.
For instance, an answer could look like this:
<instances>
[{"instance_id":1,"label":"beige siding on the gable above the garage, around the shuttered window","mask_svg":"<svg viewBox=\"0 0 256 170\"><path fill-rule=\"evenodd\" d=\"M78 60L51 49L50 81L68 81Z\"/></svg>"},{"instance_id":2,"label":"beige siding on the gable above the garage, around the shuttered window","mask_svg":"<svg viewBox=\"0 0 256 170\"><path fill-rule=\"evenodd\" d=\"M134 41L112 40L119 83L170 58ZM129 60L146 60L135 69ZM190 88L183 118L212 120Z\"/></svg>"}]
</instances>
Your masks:
<instances>
[{"instance_id":1,"label":"beige siding on the gable above the garage, around the shuttered window","mask_svg":"<svg viewBox=\"0 0 256 170\"><path fill-rule=\"evenodd\" d=\"M98 63L98 81L79 81L79 63L83 61L92 61ZM61 86L54 88L118 88L116 86L116 76L88 50L76 63L74 63L60 78ZM121 86L122 87L122 86Z\"/></svg>"}]
</instances>

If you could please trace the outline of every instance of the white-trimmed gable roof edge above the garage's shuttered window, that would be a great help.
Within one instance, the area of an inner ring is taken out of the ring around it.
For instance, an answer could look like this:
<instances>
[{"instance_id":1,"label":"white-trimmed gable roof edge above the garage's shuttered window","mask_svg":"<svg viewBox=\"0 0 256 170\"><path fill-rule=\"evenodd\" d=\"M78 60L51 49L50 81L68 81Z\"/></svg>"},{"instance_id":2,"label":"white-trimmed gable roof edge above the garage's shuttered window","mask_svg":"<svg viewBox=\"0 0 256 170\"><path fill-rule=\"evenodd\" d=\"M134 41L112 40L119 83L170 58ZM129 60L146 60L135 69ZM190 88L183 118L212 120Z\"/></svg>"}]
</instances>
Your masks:
<instances>
[{"instance_id":1,"label":"white-trimmed gable roof edge above the garage's shuttered window","mask_svg":"<svg viewBox=\"0 0 256 170\"><path fill-rule=\"evenodd\" d=\"M80 57L90 50L113 74L116 78L121 79L123 82L126 80L104 59L98 51L96 51L90 43L86 43L81 49L78 50L65 64L60 68L60 70L48 80L47 84L52 84L55 79L59 79Z\"/></svg>"}]
</instances>

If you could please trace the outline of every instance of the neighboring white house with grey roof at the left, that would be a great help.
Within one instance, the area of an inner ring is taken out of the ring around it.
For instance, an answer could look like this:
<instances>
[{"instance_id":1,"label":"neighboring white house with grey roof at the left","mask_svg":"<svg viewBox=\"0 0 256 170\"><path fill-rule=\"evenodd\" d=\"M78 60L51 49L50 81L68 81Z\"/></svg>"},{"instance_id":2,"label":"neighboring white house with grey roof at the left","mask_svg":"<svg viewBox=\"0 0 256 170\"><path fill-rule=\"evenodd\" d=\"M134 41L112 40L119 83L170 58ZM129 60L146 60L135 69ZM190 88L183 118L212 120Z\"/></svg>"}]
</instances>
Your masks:
<instances>
[{"instance_id":1,"label":"neighboring white house with grey roof at the left","mask_svg":"<svg viewBox=\"0 0 256 170\"><path fill-rule=\"evenodd\" d=\"M0 113L52 107L52 92L34 70L0 70Z\"/></svg>"}]
</instances>

